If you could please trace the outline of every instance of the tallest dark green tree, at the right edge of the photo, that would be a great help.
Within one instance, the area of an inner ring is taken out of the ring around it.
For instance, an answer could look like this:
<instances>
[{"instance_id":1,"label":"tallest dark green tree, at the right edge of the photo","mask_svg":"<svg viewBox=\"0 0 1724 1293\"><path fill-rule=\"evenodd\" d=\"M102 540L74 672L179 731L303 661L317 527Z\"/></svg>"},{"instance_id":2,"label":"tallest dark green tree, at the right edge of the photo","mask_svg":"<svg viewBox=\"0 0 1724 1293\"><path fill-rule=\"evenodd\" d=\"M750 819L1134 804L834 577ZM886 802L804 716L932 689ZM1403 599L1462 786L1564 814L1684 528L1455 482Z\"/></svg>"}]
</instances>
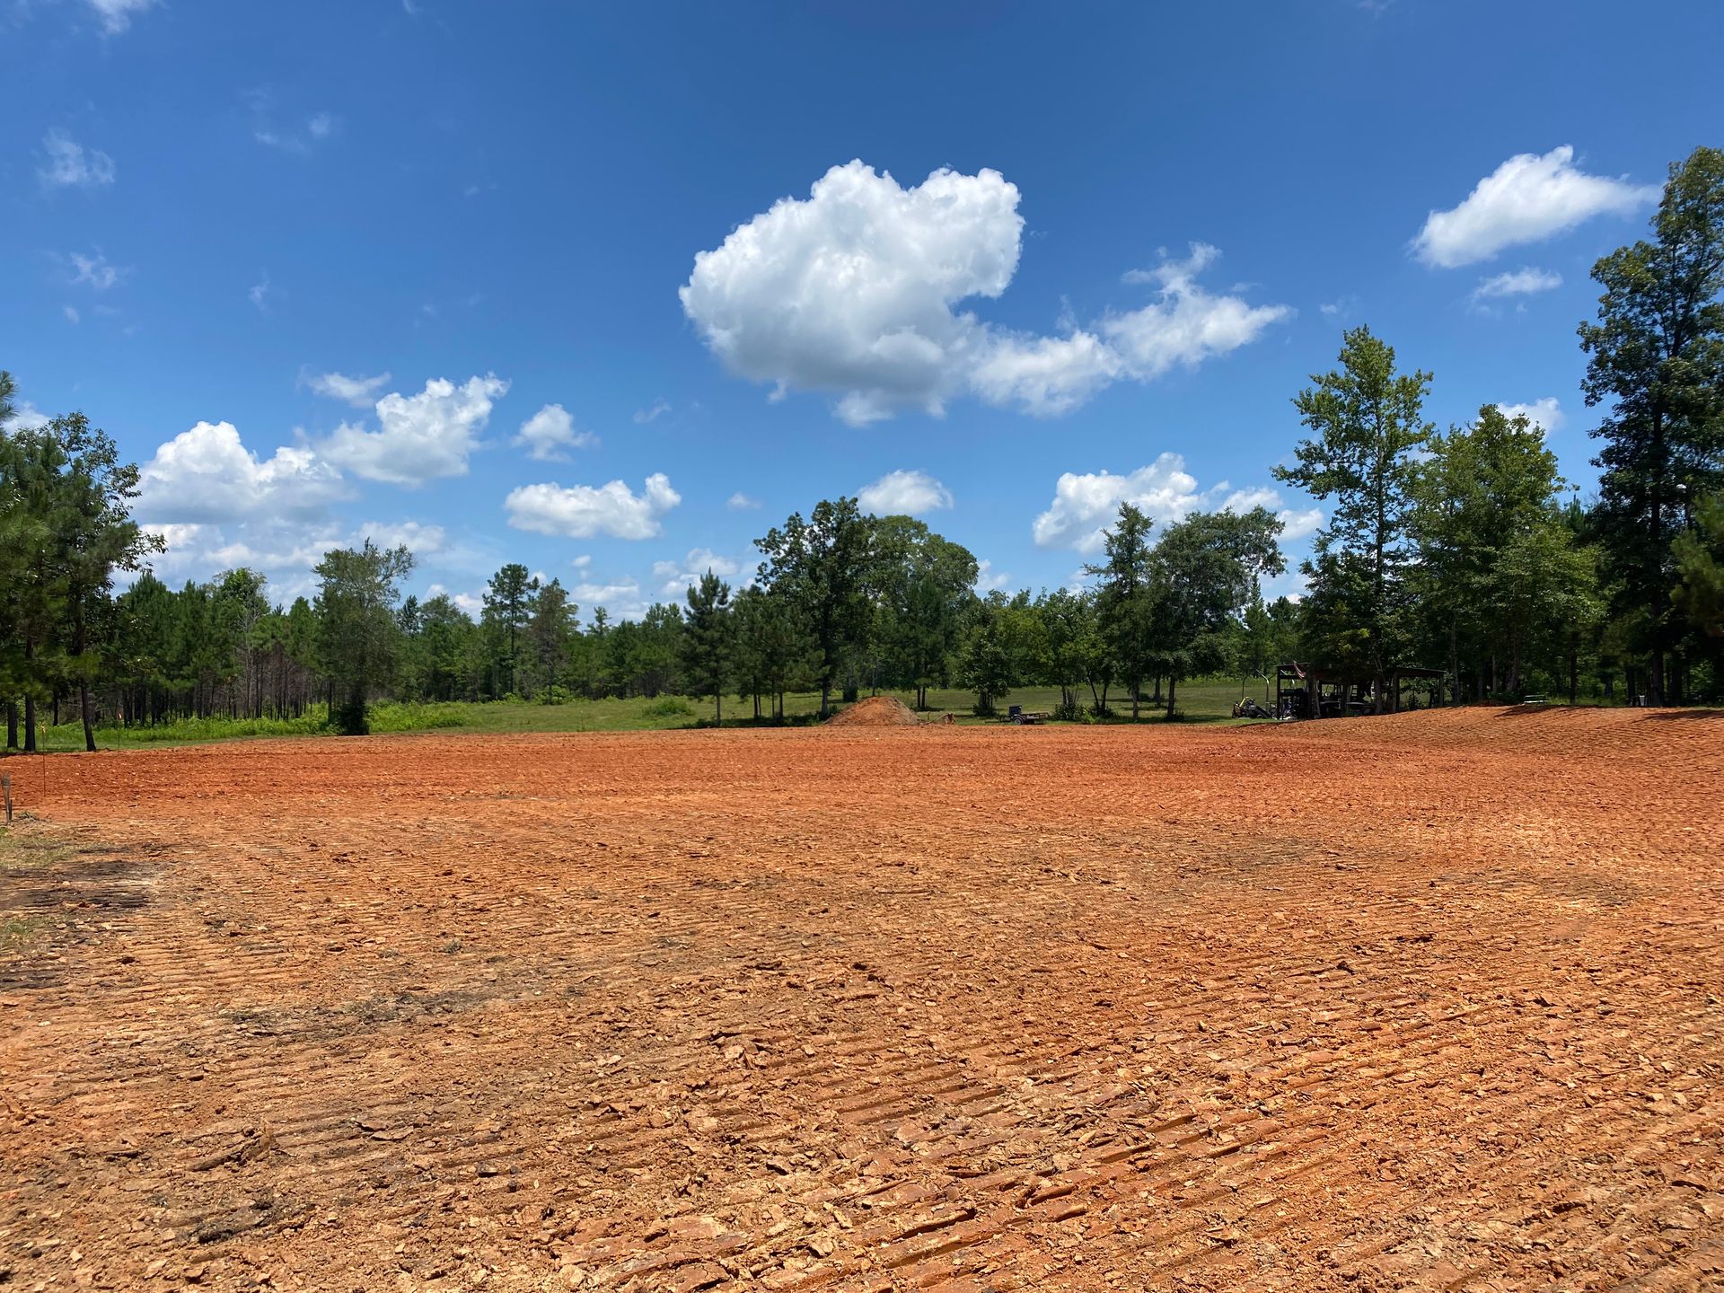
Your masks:
<instances>
[{"instance_id":1,"label":"tallest dark green tree, at the right edge of the photo","mask_svg":"<svg viewBox=\"0 0 1724 1293\"><path fill-rule=\"evenodd\" d=\"M1724 483L1724 152L1696 148L1671 167L1653 240L1593 265L1596 322L1579 328L1593 429L1600 540L1619 612L1646 612L1648 696L1665 698L1672 540L1681 500Z\"/></svg>"}]
</instances>

